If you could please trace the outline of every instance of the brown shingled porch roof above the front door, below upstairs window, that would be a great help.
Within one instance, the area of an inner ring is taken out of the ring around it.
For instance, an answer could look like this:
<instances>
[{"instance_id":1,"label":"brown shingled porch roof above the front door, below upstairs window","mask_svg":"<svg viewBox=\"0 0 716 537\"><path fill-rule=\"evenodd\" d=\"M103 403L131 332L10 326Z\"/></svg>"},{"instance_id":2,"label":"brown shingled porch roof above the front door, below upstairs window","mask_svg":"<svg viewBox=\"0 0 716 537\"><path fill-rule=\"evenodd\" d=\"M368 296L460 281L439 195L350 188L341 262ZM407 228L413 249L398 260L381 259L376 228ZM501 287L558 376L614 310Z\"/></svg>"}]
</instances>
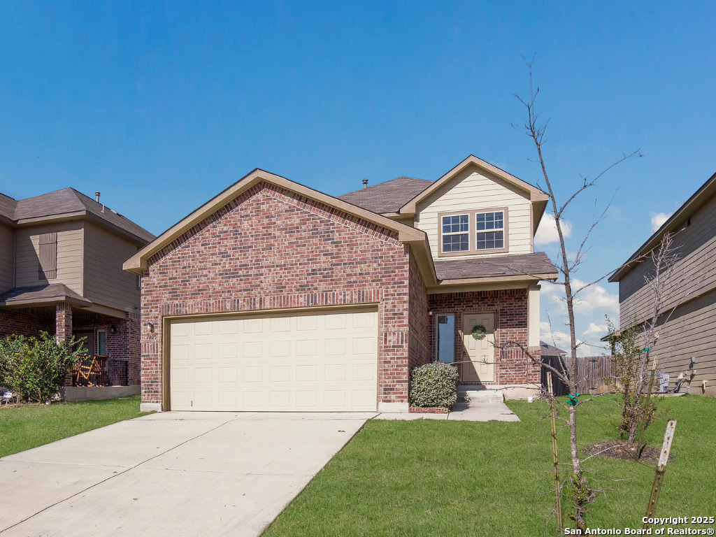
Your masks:
<instances>
[{"instance_id":1,"label":"brown shingled porch roof above the front door, below upstairs window","mask_svg":"<svg viewBox=\"0 0 716 537\"><path fill-rule=\"evenodd\" d=\"M499 276L539 276L558 274L556 266L544 252L521 253L513 256L498 256L473 259L438 259L435 274L441 280L468 278L496 278Z\"/></svg>"}]
</instances>

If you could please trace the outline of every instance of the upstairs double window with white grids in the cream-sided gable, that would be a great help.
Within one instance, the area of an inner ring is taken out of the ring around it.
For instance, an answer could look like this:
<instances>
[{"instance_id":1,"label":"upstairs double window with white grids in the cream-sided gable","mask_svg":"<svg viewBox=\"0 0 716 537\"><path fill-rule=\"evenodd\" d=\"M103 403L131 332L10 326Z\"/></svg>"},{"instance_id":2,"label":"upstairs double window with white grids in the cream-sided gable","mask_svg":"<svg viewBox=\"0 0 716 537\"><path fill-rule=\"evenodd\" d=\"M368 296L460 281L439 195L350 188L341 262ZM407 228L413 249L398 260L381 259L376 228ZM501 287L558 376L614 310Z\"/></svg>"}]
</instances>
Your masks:
<instances>
[{"instance_id":1,"label":"upstairs double window with white grids in the cream-sided gable","mask_svg":"<svg viewBox=\"0 0 716 537\"><path fill-rule=\"evenodd\" d=\"M441 214L440 256L508 251L507 208Z\"/></svg>"}]
</instances>

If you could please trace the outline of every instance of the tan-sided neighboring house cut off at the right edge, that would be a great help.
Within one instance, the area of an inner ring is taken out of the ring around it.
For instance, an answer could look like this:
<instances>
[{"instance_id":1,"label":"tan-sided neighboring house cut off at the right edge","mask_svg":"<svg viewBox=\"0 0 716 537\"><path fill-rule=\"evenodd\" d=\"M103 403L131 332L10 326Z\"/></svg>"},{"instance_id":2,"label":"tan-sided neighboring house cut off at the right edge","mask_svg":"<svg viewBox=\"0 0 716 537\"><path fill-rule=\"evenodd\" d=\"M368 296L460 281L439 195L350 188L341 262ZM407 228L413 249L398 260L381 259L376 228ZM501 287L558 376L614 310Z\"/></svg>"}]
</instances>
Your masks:
<instances>
[{"instance_id":1,"label":"tan-sided neighboring house cut off at the right edge","mask_svg":"<svg viewBox=\"0 0 716 537\"><path fill-rule=\"evenodd\" d=\"M652 316L654 276L650 254L666 233L674 234L677 261L664 281L664 307L651 354L673 388L716 396L716 175L704 183L609 281L619 282L619 328ZM604 339L609 339L606 337Z\"/></svg>"}]
</instances>

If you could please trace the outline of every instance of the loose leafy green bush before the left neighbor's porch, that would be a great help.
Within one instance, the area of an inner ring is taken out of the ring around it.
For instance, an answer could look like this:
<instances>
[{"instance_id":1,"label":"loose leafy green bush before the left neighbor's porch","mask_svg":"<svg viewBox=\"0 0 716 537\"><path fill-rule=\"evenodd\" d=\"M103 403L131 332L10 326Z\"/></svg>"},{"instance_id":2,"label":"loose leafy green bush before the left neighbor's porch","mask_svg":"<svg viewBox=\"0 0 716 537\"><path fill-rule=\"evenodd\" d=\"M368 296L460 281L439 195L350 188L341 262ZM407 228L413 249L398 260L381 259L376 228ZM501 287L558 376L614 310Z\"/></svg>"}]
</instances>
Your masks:
<instances>
[{"instance_id":1,"label":"loose leafy green bush before the left neighbor's porch","mask_svg":"<svg viewBox=\"0 0 716 537\"><path fill-rule=\"evenodd\" d=\"M0 385L15 392L18 400L47 401L64 383L64 377L87 352L69 342L57 343L54 336L15 336L0 339Z\"/></svg>"}]
</instances>

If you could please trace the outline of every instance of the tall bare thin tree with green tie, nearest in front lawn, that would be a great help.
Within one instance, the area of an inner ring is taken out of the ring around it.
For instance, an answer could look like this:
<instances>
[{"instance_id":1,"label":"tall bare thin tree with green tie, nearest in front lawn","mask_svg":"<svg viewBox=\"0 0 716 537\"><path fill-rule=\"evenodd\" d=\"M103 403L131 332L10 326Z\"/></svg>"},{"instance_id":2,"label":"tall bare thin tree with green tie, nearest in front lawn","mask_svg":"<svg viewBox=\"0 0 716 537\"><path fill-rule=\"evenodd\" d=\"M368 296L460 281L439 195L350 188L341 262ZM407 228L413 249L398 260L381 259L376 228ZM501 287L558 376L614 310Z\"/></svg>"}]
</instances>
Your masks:
<instances>
[{"instance_id":1,"label":"tall bare thin tree with green tie, nearest in front lawn","mask_svg":"<svg viewBox=\"0 0 716 537\"><path fill-rule=\"evenodd\" d=\"M536 110L536 99L539 94L539 88L535 88L533 85L533 77L532 77L532 61L528 61L525 59L525 63L528 67L529 77L530 77L530 95L528 99L523 99L519 95L515 95L517 99L524 105L527 112L526 121L523 125L516 126L518 130L521 130L524 132L528 137L531 138L532 142L535 145L537 156L538 156L538 163L541 167L542 176L547 188L547 193L549 195L549 202L551 203L551 209L553 211L554 215L554 223L557 229L557 235L559 238L559 261L558 261L558 269L561 272L561 281L556 282L557 285L560 285L564 289L564 296L565 296L565 303L566 303L566 309L567 309L567 326L569 326L569 337L570 337L570 352L571 352L571 364L568 369L560 371L557 368L554 367L548 367L548 369L551 369L553 374L555 374L559 379L561 379L567 387L569 387L569 419L567 420L569 425L569 447L570 447L570 458L571 458L571 472L569 476L569 496L573 500L574 505L574 513L570 514L570 518L574 519L575 526L578 529L581 529L584 531L586 528L586 523L584 520L584 515L586 512L587 506L594 501L596 498L596 490L593 490L589 487L589 483L587 481L586 475L584 473L584 470L581 465L581 460L579 458L579 450L577 447L577 414L579 405L581 405L581 402L579 401L579 392L577 392L577 347L579 346L579 343L576 339L576 332L575 332L575 323L574 323L574 302L576 299L576 296L581 292L584 291L584 289L588 288L591 285L596 284L598 281L601 281L601 279L592 281L588 284L584 284L582 286L579 286L579 288L574 289L573 288L573 277L572 273L576 269L577 266L583 261L584 254L586 253L586 242L589 239L589 236L592 231L594 231L595 226L601 221L602 218L604 218L604 214L606 213L606 208L603 213L601 213L601 216L599 218L596 218L596 221L594 221L589 230L586 233L586 236L584 237L584 240L581 241L581 244L579 245L579 249L574 254L574 257L570 257L567 252L566 247L566 241L565 236L563 233L563 214L566 211L566 209L569 207L569 205L581 194L584 193L585 190L593 187L597 180L601 178L604 173L609 171L611 168L614 168L614 166L618 165L619 163L624 162L624 160L627 160L628 158L631 158L635 155L639 154L639 150L634 151L634 153L631 153L629 155L622 155L619 160L616 160L613 164L609 165L607 168L601 171L598 175L596 175L594 178L586 178L581 177L581 181L576 188L576 190L566 196L566 200L561 201L558 200L558 194L556 193L556 190L553 188L552 180L550 179L550 176L547 172L545 160L543 158L543 142L544 142L544 135L546 132L546 127L548 122L541 123L539 120L540 115L538 114ZM607 208L609 205L607 205ZM526 350L526 349L523 349ZM539 359L537 357L534 357L529 352L526 352L528 357L533 359L534 362L538 362ZM560 513L561 516L561 513Z\"/></svg>"}]
</instances>

